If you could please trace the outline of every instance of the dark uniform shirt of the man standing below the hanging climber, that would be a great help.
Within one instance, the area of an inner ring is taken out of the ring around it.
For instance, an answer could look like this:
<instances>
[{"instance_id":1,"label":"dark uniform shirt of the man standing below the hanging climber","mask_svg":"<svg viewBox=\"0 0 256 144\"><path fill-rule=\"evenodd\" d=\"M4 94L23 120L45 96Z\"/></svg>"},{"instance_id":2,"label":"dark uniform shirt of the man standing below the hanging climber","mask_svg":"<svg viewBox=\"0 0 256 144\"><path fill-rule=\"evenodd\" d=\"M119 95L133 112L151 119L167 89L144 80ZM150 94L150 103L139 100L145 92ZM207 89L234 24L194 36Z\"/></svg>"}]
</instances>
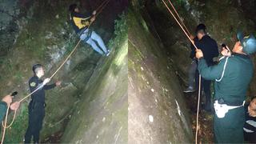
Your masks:
<instances>
[{"instance_id":1,"label":"dark uniform shirt of the man standing below the hanging climber","mask_svg":"<svg viewBox=\"0 0 256 144\"><path fill-rule=\"evenodd\" d=\"M39 79L37 76L34 76L30 78L29 85L30 85L30 92L32 93L39 86L42 86L42 79ZM34 92L34 94L31 95L32 101L45 103L45 90L50 90L55 86L56 86L55 83L51 85L43 86L41 89L37 90L36 92Z\"/></svg>"}]
</instances>

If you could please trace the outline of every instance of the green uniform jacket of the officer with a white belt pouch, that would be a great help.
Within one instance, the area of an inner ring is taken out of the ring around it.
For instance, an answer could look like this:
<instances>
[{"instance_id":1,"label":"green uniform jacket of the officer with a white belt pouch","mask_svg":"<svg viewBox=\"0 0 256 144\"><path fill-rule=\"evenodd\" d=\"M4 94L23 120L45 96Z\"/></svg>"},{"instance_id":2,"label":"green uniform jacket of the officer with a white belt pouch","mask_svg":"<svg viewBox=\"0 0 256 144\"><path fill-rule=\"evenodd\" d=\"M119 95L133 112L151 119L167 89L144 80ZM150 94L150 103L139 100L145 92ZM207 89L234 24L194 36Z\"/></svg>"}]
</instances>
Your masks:
<instances>
[{"instance_id":1,"label":"green uniform jacket of the officer with a white belt pouch","mask_svg":"<svg viewBox=\"0 0 256 144\"><path fill-rule=\"evenodd\" d=\"M198 71L202 78L215 81L214 100L223 98L226 104L242 104L253 77L253 63L250 57L244 54L233 54L227 58L223 58L216 66L207 66L206 60L201 58L198 62ZM225 63L226 70L223 73ZM217 82L220 78L221 81Z\"/></svg>"}]
</instances>

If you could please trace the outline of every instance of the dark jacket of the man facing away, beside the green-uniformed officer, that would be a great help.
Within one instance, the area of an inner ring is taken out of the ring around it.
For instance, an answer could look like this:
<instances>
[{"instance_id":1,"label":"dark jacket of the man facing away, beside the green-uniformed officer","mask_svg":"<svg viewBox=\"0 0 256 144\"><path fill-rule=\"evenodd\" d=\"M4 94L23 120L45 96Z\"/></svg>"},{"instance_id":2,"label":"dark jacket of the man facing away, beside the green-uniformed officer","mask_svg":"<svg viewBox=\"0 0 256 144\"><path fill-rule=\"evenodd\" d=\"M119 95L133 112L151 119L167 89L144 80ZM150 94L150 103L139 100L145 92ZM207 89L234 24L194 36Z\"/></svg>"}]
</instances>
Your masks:
<instances>
[{"instance_id":1,"label":"dark jacket of the man facing away, beside the green-uniformed officer","mask_svg":"<svg viewBox=\"0 0 256 144\"><path fill-rule=\"evenodd\" d=\"M218 45L217 42L210 38L209 35L205 35L199 41L194 41L195 46L202 50L202 54L206 59L208 66L214 65L214 57L218 57Z\"/></svg>"}]
</instances>

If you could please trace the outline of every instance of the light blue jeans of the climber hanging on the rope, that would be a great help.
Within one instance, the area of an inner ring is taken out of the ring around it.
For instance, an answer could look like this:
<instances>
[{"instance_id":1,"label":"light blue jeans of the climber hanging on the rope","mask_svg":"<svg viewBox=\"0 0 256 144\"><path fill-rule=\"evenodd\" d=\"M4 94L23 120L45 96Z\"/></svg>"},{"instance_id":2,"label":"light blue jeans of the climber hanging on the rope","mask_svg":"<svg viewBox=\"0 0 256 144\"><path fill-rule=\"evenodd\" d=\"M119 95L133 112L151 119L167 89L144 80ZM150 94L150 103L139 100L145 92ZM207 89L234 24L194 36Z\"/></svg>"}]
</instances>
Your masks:
<instances>
[{"instance_id":1,"label":"light blue jeans of the climber hanging on the rope","mask_svg":"<svg viewBox=\"0 0 256 144\"><path fill-rule=\"evenodd\" d=\"M106 49L104 42L102 41L102 38L98 34L96 34L94 31L92 31L90 38L86 38L88 31L89 31L89 29L85 30L81 34L80 39L82 41L87 39L86 43L88 43L95 51L97 51L99 54L106 54L107 49ZM98 43L98 45L96 44L96 42ZM100 47L98 47L98 46L100 46Z\"/></svg>"}]
</instances>

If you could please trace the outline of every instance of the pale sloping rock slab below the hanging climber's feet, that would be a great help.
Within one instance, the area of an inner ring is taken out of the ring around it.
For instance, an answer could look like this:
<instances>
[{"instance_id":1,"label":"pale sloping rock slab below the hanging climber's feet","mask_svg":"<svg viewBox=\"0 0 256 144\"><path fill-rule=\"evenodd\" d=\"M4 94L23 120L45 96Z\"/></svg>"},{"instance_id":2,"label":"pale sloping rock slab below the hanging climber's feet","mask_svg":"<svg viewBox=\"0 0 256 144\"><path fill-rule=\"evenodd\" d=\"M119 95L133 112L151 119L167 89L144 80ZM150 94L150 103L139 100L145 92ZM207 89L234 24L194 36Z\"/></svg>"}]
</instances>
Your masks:
<instances>
[{"instance_id":1,"label":"pale sloping rock slab below the hanging climber's feet","mask_svg":"<svg viewBox=\"0 0 256 144\"><path fill-rule=\"evenodd\" d=\"M101 58L76 106L62 142L127 143L128 43L126 17L118 26L111 55ZM124 36L124 37L123 37Z\"/></svg>"}]
</instances>

